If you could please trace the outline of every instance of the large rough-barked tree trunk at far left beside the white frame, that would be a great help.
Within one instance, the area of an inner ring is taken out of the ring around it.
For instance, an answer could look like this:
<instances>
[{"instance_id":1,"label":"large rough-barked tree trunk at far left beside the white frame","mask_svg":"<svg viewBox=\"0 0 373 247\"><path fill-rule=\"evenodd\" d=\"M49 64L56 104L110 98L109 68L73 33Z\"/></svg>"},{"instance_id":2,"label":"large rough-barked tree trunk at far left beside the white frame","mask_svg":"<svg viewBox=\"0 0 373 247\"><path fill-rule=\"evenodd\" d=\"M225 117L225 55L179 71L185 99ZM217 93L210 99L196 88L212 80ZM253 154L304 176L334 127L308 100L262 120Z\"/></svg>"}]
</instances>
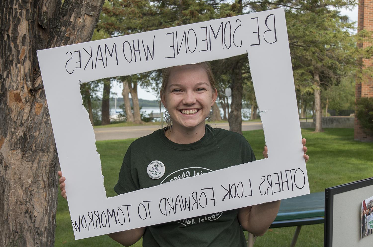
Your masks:
<instances>
[{"instance_id":1,"label":"large rough-barked tree trunk at far left beside the white frame","mask_svg":"<svg viewBox=\"0 0 373 247\"><path fill-rule=\"evenodd\" d=\"M54 245L59 162L36 51L89 41L103 2L0 1L0 246Z\"/></svg>"}]
</instances>

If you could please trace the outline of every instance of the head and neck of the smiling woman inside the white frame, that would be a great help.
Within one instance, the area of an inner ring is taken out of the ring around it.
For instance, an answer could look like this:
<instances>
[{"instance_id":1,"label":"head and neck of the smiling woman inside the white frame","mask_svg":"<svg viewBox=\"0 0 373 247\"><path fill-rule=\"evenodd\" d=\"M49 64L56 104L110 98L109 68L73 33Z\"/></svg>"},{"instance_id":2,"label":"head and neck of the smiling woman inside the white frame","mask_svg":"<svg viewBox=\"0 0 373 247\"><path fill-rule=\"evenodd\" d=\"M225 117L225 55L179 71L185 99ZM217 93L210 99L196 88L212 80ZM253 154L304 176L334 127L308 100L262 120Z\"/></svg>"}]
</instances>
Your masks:
<instances>
[{"instance_id":1,"label":"head and neck of the smiling woman inside the white frame","mask_svg":"<svg viewBox=\"0 0 373 247\"><path fill-rule=\"evenodd\" d=\"M201 139L205 120L217 97L209 64L189 64L163 70L160 98L172 119L166 136L173 142L188 144Z\"/></svg>"}]
</instances>

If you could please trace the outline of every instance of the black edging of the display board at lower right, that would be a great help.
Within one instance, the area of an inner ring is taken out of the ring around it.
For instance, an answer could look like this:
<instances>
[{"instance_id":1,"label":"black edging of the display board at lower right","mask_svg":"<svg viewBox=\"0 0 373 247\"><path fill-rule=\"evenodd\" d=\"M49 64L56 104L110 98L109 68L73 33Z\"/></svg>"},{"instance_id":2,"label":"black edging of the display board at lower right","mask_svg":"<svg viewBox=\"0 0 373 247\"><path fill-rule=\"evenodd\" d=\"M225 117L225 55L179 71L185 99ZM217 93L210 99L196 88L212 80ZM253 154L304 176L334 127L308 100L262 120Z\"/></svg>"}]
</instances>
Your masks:
<instances>
[{"instance_id":1,"label":"black edging of the display board at lower right","mask_svg":"<svg viewBox=\"0 0 373 247\"><path fill-rule=\"evenodd\" d=\"M373 177L325 189L324 246L333 246L333 197L336 194L373 185Z\"/></svg>"}]
</instances>

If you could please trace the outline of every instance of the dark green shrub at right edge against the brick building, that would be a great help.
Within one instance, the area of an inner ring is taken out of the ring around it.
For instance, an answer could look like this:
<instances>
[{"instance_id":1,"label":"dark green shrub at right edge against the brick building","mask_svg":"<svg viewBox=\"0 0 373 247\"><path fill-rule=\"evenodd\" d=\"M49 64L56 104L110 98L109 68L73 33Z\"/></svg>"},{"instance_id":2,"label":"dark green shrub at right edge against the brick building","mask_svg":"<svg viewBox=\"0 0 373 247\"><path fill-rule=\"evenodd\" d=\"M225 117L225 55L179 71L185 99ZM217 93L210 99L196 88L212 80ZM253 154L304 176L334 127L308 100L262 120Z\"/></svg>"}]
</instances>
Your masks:
<instances>
[{"instance_id":1,"label":"dark green shrub at right edge against the brick building","mask_svg":"<svg viewBox=\"0 0 373 247\"><path fill-rule=\"evenodd\" d=\"M366 134L373 135L373 97L357 100L356 117Z\"/></svg>"}]
</instances>

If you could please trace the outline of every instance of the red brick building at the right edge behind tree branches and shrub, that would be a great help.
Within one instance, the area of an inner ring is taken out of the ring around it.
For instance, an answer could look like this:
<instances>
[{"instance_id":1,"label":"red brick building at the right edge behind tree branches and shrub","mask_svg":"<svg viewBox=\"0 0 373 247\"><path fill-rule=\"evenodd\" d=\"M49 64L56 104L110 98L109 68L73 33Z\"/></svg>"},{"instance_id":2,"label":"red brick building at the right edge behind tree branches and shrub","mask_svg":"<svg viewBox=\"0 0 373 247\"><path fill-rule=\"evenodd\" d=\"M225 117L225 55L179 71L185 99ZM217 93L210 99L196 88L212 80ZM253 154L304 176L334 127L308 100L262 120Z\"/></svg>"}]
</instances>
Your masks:
<instances>
[{"instance_id":1,"label":"red brick building at the right edge behind tree branches and shrub","mask_svg":"<svg viewBox=\"0 0 373 247\"><path fill-rule=\"evenodd\" d=\"M373 31L373 0L359 0L359 10L358 10L358 31L366 29L368 31ZM363 47L370 46L372 44L364 42L360 44ZM372 59L363 59L363 65L366 67L373 66ZM355 85L355 100L361 97L373 97L373 78L370 76L363 76L362 81L357 81ZM354 124L355 134L354 139L357 141L373 141L373 136L369 136L364 133L361 128L359 121L355 117Z\"/></svg>"}]
</instances>

